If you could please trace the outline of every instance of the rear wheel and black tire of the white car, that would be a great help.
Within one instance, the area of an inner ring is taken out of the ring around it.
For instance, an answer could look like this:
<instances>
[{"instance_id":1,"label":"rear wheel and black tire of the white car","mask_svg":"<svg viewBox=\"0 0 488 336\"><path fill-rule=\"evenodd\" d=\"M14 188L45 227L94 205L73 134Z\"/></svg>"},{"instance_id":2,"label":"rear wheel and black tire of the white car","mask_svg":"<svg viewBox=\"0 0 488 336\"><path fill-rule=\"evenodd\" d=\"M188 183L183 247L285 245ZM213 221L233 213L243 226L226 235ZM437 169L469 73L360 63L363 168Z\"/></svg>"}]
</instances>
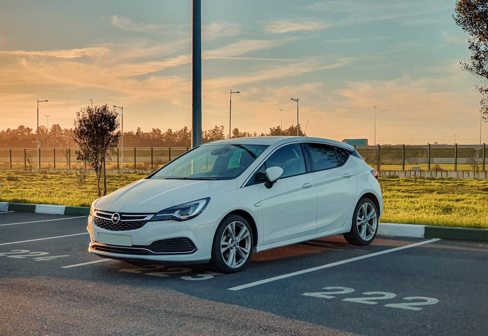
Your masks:
<instances>
[{"instance_id":1,"label":"rear wheel and black tire of the white car","mask_svg":"<svg viewBox=\"0 0 488 336\"><path fill-rule=\"evenodd\" d=\"M378 232L378 209L369 198L361 198L352 215L351 231L344 233L347 242L352 245L370 244Z\"/></svg>"}]
</instances>

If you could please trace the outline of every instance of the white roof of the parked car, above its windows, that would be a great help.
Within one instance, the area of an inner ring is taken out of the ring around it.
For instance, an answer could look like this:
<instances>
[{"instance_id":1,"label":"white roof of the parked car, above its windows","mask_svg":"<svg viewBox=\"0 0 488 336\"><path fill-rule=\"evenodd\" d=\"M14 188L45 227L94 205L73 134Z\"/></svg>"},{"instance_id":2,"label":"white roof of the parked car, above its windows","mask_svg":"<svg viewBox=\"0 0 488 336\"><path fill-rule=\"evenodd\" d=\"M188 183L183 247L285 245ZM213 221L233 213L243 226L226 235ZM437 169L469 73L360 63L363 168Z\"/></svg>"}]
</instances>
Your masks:
<instances>
[{"instance_id":1,"label":"white roof of the parked car, above its windows","mask_svg":"<svg viewBox=\"0 0 488 336\"><path fill-rule=\"evenodd\" d=\"M239 145L282 145L287 143L296 143L296 142L315 142L315 143L325 143L329 145L335 145L338 147L343 147L348 150L353 150L349 144L331 140L331 139L324 139L324 138L315 138L315 137L298 137L298 136L259 136L259 137L244 137L244 138L232 138L232 139L224 139L224 140L215 140L212 142L207 142L202 146L209 145L209 144L239 144Z\"/></svg>"}]
</instances>

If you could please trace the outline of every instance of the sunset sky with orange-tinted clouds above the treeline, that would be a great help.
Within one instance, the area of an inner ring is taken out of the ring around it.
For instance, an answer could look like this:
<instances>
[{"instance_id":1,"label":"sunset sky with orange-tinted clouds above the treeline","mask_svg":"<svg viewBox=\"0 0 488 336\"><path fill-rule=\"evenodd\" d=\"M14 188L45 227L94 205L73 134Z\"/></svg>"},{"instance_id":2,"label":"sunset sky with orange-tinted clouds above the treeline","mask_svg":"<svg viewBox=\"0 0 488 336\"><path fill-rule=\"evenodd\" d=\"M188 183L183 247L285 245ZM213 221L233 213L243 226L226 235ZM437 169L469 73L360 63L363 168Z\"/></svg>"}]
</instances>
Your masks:
<instances>
[{"instance_id":1,"label":"sunset sky with orange-tinted clouds above the treeline","mask_svg":"<svg viewBox=\"0 0 488 336\"><path fill-rule=\"evenodd\" d=\"M455 0L202 0L203 130L369 144L480 143ZM191 128L191 0L2 0L0 129L73 127L123 106L124 132ZM376 108L376 123L374 122ZM283 109L281 112L280 109ZM120 109L118 109L120 112ZM376 125L376 127L375 127ZM482 142L488 143L483 123Z\"/></svg>"}]
</instances>

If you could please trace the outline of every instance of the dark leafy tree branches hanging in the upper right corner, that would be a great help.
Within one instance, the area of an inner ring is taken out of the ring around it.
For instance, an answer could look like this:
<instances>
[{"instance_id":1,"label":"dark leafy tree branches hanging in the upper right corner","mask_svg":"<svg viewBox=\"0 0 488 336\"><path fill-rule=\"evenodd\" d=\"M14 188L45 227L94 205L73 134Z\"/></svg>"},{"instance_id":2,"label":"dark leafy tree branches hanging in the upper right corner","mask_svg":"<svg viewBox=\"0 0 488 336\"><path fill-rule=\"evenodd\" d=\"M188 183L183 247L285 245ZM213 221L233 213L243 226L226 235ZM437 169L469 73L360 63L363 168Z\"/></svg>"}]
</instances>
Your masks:
<instances>
[{"instance_id":1,"label":"dark leafy tree branches hanging in the upper right corner","mask_svg":"<svg viewBox=\"0 0 488 336\"><path fill-rule=\"evenodd\" d=\"M482 96L488 94L488 1L456 1L454 21L469 34L468 49L471 51L470 62L460 62L463 70L476 76L480 84L476 90ZM480 112L487 121L488 98L481 99Z\"/></svg>"}]
</instances>

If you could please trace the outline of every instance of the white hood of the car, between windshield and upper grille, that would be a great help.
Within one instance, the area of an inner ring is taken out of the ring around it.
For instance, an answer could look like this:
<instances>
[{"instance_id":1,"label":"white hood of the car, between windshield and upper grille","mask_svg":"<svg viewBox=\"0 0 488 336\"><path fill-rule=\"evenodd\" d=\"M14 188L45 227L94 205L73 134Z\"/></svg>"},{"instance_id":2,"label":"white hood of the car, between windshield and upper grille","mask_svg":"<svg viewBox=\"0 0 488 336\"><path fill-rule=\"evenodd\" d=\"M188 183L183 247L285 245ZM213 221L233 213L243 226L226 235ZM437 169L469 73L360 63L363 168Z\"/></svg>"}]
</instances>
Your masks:
<instances>
[{"instance_id":1,"label":"white hood of the car, between windshield and upper grille","mask_svg":"<svg viewBox=\"0 0 488 336\"><path fill-rule=\"evenodd\" d=\"M237 189L236 180L142 179L100 198L95 209L158 212L183 203Z\"/></svg>"}]
</instances>

